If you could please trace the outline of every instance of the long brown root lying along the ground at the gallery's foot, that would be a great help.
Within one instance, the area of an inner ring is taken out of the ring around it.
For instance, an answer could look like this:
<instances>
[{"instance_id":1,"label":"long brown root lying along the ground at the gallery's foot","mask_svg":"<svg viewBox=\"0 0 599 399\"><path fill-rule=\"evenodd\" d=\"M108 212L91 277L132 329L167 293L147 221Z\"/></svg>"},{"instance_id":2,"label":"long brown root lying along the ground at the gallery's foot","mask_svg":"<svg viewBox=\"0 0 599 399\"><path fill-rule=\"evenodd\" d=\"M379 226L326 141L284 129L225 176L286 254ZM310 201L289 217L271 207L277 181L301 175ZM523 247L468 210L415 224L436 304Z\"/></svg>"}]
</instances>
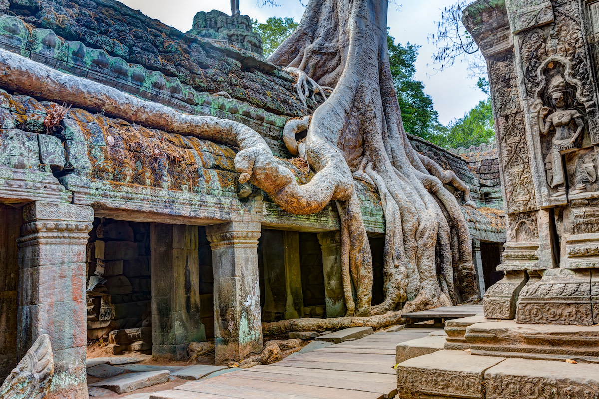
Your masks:
<instances>
[{"instance_id":1,"label":"long brown root lying along the ground at the gallery's foot","mask_svg":"<svg viewBox=\"0 0 599 399\"><path fill-rule=\"evenodd\" d=\"M262 334L280 335L291 331L327 331L341 330L350 327L372 327L374 330L390 325L400 324L404 321L404 312L387 312L382 315L367 317L336 317L329 319L289 319L272 323L262 323Z\"/></svg>"}]
</instances>

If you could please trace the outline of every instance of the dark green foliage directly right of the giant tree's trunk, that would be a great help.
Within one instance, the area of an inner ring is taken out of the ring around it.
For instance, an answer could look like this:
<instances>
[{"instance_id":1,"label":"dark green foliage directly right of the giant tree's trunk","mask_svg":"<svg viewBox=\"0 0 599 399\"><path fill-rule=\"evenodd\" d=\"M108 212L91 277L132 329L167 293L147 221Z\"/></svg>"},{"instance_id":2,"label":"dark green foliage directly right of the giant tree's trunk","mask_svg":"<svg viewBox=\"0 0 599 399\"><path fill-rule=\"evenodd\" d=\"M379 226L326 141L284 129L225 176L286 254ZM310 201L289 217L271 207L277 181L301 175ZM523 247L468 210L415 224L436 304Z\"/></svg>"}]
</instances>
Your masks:
<instances>
[{"instance_id":1,"label":"dark green foliage directly right of the giant tree's trunk","mask_svg":"<svg viewBox=\"0 0 599 399\"><path fill-rule=\"evenodd\" d=\"M395 44L392 36L387 36L387 44L391 75L406 132L438 142L446 128L438 122L439 114L435 111L431 96L424 93L424 84L415 79L415 63L420 46Z\"/></svg>"}]
</instances>

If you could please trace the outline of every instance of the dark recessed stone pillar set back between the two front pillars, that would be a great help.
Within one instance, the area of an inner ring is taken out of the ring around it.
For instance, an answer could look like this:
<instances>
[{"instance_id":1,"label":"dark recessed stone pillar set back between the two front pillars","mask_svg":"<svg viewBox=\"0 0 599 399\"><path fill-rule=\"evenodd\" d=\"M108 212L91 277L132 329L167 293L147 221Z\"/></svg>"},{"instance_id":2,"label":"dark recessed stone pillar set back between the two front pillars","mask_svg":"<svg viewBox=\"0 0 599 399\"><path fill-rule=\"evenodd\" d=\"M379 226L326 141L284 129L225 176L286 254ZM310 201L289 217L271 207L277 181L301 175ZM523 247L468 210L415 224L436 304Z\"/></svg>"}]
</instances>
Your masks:
<instances>
[{"instance_id":1,"label":"dark recessed stone pillar set back between the two front pillars","mask_svg":"<svg viewBox=\"0 0 599 399\"><path fill-rule=\"evenodd\" d=\"M197 226L150 226L152 356L186 360L190 342L204 342L200 317Z\"/></svg>"}]
</instances>

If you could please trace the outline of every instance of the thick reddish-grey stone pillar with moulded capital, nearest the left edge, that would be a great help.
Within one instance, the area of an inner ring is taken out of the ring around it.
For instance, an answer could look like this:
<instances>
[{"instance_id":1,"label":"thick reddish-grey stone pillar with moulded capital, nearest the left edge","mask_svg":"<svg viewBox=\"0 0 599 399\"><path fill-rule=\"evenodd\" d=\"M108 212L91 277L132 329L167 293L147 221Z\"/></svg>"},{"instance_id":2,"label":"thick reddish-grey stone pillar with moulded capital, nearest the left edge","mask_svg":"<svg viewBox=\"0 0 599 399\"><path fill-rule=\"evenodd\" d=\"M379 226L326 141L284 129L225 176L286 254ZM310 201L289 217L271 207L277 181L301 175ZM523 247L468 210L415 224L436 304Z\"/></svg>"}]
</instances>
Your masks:
<instances>
[{"instance_id":1,"label":"thick reddish-grey stone pillar with moulded capital, nearest the left edge","mask_svg":"<svg viewBox=\"0 0 599 399\"><path fill-rule=\"evenodd\" d=\"M87 398L86 245L93 209L34 202L19 239L18 354L49 334L55 372L50 398Z\"/></svg>"}]
</instances>

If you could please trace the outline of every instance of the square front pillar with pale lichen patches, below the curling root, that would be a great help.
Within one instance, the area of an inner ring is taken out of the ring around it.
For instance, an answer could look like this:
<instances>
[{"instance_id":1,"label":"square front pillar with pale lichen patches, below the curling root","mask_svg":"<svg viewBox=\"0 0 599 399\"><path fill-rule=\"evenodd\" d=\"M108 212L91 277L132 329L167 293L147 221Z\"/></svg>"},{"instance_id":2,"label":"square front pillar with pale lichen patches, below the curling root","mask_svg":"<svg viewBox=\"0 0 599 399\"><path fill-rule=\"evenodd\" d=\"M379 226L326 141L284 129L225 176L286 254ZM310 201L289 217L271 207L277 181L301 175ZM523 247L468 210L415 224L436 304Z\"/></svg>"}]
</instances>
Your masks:
<instances>
[{"instance_id":1,"label":"square front pillar with pale lichen patches, below the curling root","mask_svg":"<svg viewBox=\"0 0 599 399\"><path fill-rule=\"evenodd\" d=\"M206 227L214 273L214 361L238 361L262 351L258 281L259 223Z\"/></svg>"}]
</instances>

